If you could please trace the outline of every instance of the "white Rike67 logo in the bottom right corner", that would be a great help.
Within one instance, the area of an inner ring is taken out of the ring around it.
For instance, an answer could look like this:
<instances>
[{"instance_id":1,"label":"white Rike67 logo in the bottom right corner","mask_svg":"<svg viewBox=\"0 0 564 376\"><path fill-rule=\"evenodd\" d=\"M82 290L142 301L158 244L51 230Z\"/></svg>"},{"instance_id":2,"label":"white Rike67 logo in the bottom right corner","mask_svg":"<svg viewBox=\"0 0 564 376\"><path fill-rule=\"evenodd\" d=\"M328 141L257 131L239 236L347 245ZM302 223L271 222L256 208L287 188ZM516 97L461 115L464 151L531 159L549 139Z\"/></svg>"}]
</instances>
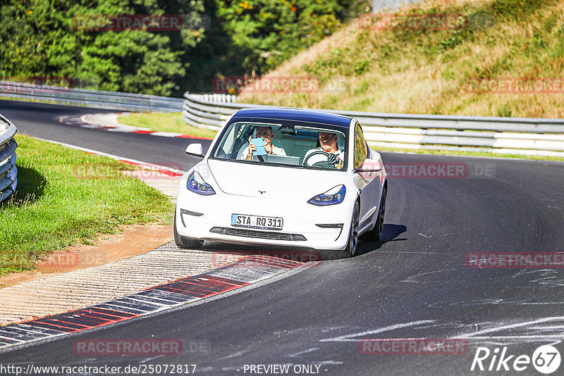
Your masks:
<instances>
[{"instance_id":1,"label":"white Rike67 logo in the bottom right corner","mask_svg":"<svg viewBox=\"0 0 564 376\"><path fill-rule=\"evenodd\" d=\"M509 355L507 346L503 349L496 347L490 351L487 347L478 347L470 370L514 371L520 372L533 367L545 375L551 374L560 367L560 351L551 345L539 346L532 356Z\"/></svg>"}]
</instances>

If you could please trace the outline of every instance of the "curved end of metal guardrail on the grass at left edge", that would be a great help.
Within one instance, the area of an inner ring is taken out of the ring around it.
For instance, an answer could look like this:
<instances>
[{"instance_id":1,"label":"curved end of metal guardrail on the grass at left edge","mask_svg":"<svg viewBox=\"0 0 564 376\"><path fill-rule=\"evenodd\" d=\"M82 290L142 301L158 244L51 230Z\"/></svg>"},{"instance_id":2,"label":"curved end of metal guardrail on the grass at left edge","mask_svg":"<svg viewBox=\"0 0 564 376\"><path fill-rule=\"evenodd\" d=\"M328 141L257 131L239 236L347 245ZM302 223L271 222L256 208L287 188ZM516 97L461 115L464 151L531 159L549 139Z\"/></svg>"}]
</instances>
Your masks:
<instances>
[{"instance_id":1,"label":"curved end of metal guardrail on the grass at left edge","mask_svg":"<svg viewBox=\"0 0 564 376\"><path fill-rule=\"evenodd\" d=\"M8 199L18 186L16 168L16 125L0 115L0 202Z\"/></svg>"}]
</instances>

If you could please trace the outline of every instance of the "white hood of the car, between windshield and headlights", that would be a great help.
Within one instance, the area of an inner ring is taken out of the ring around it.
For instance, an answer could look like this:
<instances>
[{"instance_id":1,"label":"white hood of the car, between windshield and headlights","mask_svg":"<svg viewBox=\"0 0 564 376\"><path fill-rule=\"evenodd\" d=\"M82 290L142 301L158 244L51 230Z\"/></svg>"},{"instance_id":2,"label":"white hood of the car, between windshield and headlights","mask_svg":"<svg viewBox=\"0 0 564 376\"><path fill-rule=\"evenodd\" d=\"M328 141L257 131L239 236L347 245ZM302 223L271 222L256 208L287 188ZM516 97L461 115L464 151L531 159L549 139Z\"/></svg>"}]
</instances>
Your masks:
<instances>
[{"instance_id":1,"label":"white hood of the car, between windshield and headlights","mask_svg":"<svg viewBox=\"0 0 564 376\"><path fill-rule=\"evenodd\" d=\"M345 183L345 173L255 163L208 160L219 189L227 194L306 199Z\"/></svg>"}]
</instances>

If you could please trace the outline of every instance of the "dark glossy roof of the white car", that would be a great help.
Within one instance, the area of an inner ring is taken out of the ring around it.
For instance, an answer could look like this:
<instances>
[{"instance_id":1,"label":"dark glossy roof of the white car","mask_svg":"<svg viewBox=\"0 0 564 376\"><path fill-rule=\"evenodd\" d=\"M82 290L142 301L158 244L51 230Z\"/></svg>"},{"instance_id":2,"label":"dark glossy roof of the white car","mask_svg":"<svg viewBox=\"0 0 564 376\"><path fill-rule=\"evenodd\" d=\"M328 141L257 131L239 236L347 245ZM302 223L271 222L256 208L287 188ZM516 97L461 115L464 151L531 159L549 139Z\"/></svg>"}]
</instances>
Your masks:
<instances>
[{"instance_id":1,"label":"dark glossy roof of the white car","mask_svg":"<svg viewBox=\"0 0 564 376\"><path fill-rule=\"evenodd\" d=\"M324 111L309 110L306 108L284 108L284 107L257 107L243 108L233 116L233 120L257 119L273 119L273 120L297 120L307 123L318 123L332 125L333 127L345 128L350 127L348 116L337 115Z\"/></svg>"}]
</instances>

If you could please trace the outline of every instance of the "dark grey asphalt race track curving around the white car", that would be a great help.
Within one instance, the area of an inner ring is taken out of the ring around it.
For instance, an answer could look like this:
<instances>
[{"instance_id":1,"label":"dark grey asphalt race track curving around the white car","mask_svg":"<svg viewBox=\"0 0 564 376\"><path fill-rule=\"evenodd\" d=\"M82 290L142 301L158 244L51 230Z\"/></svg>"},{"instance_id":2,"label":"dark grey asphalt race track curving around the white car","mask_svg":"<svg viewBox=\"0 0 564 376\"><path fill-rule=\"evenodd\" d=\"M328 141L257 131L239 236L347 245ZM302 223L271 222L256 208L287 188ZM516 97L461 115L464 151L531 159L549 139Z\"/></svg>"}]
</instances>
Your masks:
<instances>
[{"instance_id":1,"label":"dark grey asphalt race track curving around the white car","mask_svg":"<svg viewBox=\"0 0 564 376\"><path fill-rule=\"evenodd\" d=\"M183 152L185 139L87 130L57 120L92 112L104 111L0 101L0 113L22 133L151 163L188 168L195 161ZM564 354L564 271L468 268L465 255L563 252L564 163L393 153L383 158L386 165L458 163L468 175L391 178L384 242L361 242L355 258L322 261L199 305L0 353L0 363L196 364L197 375L252 375L245 365L269 364L320 365L321 375L540 375L531 364L522 372L470 367L478 346L492 352L508 346L507 354L516 357L553 344ZM360 339L376 338L466 339L468 351L359 351ZM150 358L80 356L73 352L78 339L180 339L185 350Z\"/></svg>"}]
</instances>

